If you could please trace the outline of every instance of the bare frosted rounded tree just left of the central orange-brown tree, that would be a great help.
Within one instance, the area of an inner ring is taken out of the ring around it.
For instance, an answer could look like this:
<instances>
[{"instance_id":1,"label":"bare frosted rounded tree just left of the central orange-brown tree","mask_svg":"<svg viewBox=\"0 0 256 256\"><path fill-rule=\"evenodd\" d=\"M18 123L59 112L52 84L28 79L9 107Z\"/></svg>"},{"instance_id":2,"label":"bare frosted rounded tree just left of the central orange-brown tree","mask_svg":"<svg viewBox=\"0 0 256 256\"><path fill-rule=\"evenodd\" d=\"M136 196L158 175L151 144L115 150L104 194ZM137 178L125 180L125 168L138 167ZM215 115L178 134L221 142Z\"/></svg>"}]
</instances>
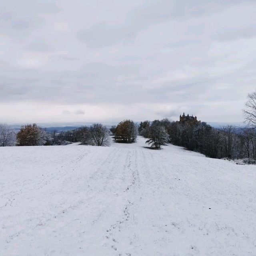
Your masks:
<instances>
[{"instance_id":1,"label":"bare frosted rounded tree just left of the central orange-brown tree","mask_svg":"<svg viewBox=\"0 0 256 256\"><path fill-rule=\"evenodd\" d=\"M110 146L110 132L102 124L93 124L88 129L88 144L92 146Z\"/></svg>"}]
</instances>

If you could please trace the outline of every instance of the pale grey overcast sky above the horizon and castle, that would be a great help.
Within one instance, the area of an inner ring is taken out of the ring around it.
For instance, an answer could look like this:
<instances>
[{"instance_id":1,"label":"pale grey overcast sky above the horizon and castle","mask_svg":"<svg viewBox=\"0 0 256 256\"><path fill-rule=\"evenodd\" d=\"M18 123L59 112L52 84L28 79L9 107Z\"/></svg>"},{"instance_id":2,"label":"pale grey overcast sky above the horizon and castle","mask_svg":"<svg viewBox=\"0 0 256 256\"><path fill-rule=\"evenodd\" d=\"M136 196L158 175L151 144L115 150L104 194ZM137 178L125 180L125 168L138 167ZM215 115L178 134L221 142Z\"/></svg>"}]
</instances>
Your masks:
<instances>
[{"instance_id":1,"label":"pale grey overcast sky above the horizon and castle","mask_svg":"<svg viewBox=\"0 0 256 256\"><path fill-rule=\"evenodd\" d=\"M0 122L243 121L255 15L255 0L2 0Z\"/></svg>"}]
</instances>

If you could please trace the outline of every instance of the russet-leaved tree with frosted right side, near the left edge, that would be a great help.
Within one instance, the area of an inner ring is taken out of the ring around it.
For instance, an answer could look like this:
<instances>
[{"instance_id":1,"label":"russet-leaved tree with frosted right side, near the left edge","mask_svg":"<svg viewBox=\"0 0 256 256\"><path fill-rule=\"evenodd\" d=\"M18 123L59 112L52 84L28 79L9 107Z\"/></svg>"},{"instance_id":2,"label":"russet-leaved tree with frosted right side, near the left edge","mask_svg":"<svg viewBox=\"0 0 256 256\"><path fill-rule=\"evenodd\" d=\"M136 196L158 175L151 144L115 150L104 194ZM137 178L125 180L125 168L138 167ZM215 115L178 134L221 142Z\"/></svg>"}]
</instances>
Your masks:
<instances>
[{"instance_id":1,"label":"russet-leaved tree with frosted right side, near the left edge","mask_svg":"<svg viewBox=\"0 0 256 256\"><path fill-rule=\"evenodd\" d=\"M37 124L26 124L17 134L19 146L41 146L46 144L48 139L50 135Z\"/></svg>"}]
</instances>

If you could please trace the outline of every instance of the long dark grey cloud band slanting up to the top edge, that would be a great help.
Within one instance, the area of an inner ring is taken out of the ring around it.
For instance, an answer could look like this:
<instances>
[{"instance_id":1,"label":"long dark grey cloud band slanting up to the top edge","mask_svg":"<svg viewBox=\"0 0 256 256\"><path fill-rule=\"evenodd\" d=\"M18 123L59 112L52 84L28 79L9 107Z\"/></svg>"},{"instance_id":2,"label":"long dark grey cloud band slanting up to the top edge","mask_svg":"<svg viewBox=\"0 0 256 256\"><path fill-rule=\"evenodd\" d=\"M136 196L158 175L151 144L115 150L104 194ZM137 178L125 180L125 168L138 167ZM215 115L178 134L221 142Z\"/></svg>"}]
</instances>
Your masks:
<instances>
[{"instance_id":1,"label":"long dark grey cloud band slanting up to the top edge","mask_svg":"<svg viewBox=\"0 0 256 256\"><path fill-rule=\"evenodd\" d=\"M151 25L209 15L240 2L242 0L183 0L178 2L160 0L145 2L127 14L126 23L116 26L106 23L94 24L89 29L78 31L77 37L90 48L127 44L133 42L141 30Z\"/></svg>"}]
</instances>

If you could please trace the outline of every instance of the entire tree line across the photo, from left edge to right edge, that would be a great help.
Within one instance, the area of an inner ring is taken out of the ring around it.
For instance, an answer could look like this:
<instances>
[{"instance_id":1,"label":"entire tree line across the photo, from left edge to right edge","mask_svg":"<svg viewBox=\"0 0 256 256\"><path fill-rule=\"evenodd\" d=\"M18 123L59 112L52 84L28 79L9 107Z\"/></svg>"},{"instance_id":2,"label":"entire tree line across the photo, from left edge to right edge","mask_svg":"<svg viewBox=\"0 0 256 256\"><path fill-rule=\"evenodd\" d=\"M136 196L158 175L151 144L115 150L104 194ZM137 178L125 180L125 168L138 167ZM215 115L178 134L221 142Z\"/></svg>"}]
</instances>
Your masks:
<instances>
[{"instance_id":1,"label":"entire tree line across the photo, from left edge to right edge","mask_svg":"<svg viewBox=\"0 0 256 256\"><path fill-rule=\"evenodd\" d=\"M213 128L206 122L180 123L168 118L140 122L123 120L108 129L102 124L51 134L37 124L27 124L16 134L7 124L0 124L0 146L63 145L81 142L84 145L109 146L110 135L115 142L133 143L137 135L147 138L146 143L160 149L166 143L183 146L210 158L248 158L256 160L256 92L248 94L244 109L247 126L226 125Z\"/></svg>"}]
</instances>

